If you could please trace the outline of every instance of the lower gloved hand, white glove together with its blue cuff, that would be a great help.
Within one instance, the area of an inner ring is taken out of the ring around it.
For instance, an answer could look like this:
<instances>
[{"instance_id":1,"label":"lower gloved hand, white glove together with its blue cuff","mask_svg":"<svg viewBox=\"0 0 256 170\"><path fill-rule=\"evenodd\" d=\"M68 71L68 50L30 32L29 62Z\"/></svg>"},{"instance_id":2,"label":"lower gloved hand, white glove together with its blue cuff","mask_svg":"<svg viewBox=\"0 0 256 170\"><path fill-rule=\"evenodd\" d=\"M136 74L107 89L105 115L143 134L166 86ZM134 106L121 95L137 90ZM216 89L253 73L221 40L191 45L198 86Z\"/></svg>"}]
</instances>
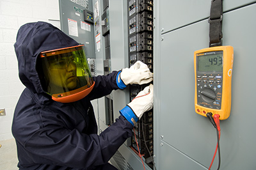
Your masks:
<instances>
[{"instance_id":1,"label":"lower gloved hand, white glove together with its blue cuff","mask_svg":"<svg viewBox=\"0 0 256 170\"><path fill-rule=\"evenodd\" d=\"M153 107L153 93L154 86L150 84L143 91L140 91L138 95L122 109L120 114L126 118L132 125L136 123L144 112L149 111Z\"/></svg>"}]
</instances>

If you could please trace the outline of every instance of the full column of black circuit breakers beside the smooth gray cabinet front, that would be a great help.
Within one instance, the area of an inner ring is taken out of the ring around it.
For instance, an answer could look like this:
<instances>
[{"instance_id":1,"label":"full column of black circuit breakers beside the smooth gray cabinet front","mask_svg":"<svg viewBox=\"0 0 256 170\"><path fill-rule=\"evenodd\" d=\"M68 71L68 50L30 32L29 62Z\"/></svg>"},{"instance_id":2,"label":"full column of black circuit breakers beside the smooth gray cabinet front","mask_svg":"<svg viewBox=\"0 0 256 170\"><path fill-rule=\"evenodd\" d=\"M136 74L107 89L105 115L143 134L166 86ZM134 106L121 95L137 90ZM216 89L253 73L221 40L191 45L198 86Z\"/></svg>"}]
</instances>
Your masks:
<instances>
[{"instance_id":1,"label":"full column of black circuit breakers beside the smooth gray cabinet front","mask_svg":"<svg viewBox=\"0 0 256 170\"><path fill-rule=\"evenodd\" d=\"M142 61L153 72L153 1L131 0L128 7L128 40L129 40L129 64ZM148 86L145 84L130 86L130 100ZM143 114L136 124L135 134L141 155L149 167L153 167L153 111ZM135 136L131 137L131 147L138 152Z\"/></svg>"}]
</instances>

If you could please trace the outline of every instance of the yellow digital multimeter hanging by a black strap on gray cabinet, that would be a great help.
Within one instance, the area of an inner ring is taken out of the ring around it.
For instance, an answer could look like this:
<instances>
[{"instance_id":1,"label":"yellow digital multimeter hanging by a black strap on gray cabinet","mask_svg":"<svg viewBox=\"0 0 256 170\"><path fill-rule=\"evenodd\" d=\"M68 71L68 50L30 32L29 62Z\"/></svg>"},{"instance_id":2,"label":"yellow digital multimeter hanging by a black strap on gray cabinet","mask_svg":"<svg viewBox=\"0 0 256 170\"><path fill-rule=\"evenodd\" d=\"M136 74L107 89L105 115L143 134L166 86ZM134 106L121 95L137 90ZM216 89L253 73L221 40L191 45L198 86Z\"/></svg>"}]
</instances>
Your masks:
<instances>
[{"instance_id":1,"label":"yellow digital multimeter hanging by a black strap on gray cabinet","mask_svg":"<svg viewBox=\"0 0 256 170\"><path fill-rule=\"evenodd\" d=\"M233 59L234 51L231 46L195 51L196 113L205 117L207 112L219 114L220 120L229 117Z\"/></svg>"}]
</instances>

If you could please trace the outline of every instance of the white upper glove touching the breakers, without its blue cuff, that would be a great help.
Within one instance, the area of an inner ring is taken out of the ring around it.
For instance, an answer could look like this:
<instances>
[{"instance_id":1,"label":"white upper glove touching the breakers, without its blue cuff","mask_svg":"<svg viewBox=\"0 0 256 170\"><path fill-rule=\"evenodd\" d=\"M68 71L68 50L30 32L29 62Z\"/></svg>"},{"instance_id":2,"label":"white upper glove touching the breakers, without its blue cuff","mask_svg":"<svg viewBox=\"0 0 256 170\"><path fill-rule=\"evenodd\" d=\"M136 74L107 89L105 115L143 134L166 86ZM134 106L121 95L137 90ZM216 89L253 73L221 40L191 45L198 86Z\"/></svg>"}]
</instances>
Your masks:
<instances>
[{"instance_id":1,"label":"white upper glove touching the breakers, without its blue cuff","mask_svg":"<svg viewBox=\"0 0 256 170\"><path fill-rule=\"evenodd\" d=\"M137 61L130 68L123 68L120 73L120 79L127 86L128 84L147 84L153 80L153 73L148 66Z\"/></svg>"}]
</instances>

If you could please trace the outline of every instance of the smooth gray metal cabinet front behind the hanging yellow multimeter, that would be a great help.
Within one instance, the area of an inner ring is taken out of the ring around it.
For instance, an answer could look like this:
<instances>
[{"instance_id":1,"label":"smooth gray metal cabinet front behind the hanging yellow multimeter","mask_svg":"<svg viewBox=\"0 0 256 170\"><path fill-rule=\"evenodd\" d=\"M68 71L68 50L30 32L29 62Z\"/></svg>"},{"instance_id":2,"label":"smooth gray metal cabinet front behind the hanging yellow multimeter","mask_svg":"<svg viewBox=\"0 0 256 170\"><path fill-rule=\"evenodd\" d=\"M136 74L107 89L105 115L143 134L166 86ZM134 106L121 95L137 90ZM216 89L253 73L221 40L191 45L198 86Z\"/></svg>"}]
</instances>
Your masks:
<instances>
[{"instance_id":1,"label":"smooth gray metal cabinet front behind the hanging yellow multimeter","mask_svg":"<svg viewBox=\"0 0 256 170\"><path fill-rule=\"evenodd\" d=\"M157 169L207 169L216 130L194 109L193 52L209 44L211 1L155 1L154 151ZM255 169L255 1L223 1L223 45L234 47L232 108L221 126L221 168ZM156 57L157 56L157 57ZM212 169L218 166L216 155Z\"/></svg>"}]
</instances>

